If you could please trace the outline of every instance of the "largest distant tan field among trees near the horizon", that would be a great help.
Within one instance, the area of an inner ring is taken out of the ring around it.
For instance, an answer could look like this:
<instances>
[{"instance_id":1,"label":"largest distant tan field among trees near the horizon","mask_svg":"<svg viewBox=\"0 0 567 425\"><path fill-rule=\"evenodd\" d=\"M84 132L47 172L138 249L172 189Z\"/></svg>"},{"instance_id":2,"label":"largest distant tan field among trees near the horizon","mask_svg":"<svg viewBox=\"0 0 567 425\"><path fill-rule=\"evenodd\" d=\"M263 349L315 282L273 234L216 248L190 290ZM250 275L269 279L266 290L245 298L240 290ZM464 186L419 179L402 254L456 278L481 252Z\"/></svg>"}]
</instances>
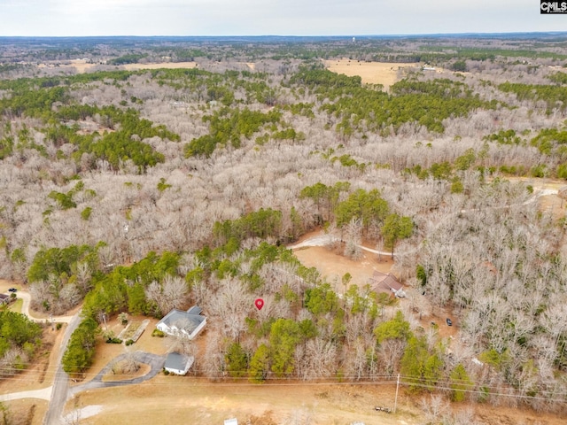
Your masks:
<instances>
[{"instance_id":1,"label":"largest distant tan field among trees near the horizon","mask_svg":"<svg viewBox=\"0 0 567 425\"><path fill-rule=\"evenodd\" d=\"M344 73L349 77L359 75L365 84L382 84L384 90L399 81L406 68L416 68L419 64L364 62L361 60L325 60L325 66L333 73Z\"/></svg>"}]
</instances>

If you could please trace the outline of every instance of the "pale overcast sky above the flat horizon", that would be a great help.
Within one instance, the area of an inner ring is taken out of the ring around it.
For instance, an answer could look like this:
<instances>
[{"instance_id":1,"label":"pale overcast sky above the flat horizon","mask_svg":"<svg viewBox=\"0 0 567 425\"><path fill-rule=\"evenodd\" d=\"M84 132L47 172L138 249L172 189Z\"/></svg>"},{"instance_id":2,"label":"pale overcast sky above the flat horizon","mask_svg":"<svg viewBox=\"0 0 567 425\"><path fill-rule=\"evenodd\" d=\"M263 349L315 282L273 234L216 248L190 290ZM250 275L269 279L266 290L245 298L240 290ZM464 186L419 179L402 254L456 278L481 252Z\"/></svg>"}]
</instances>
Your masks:
<instances>
[{"instance_id":1,"label":"pale overcast sky above the flat horizon","mask_svg":"<svg viewBox=\"0 0 567 425\"><path fill-rule=\"evenodd\" d=\"M567 14L538 0L0 0L0 36L548 31L567 31Z\"/></svg>"}]
</instances>

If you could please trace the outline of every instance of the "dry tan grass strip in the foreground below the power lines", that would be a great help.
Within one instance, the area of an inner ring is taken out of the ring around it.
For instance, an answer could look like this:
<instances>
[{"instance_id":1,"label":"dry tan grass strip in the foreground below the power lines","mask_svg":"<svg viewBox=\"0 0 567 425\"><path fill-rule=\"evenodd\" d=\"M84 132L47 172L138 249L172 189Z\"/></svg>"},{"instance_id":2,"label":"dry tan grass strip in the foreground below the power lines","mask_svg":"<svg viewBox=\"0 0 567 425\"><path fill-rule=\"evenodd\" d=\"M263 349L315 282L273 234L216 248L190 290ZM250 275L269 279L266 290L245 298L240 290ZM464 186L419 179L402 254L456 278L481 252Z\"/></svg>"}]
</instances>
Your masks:
<instances>
[{"instance_id":1,"label":"dry tan grass strip in the foreground below the power lines","mask_svg":"<svg viewBox=\"0 0 567 425\"><path fill-rule=\"evenodd\" d=\"M77 409L100 406L99 413L81 423L146 425L165 416L169 423L215 424L236 417L252 425L311 423L348 425L418 425L427 422L419 403L428 395L400 390L397 413L376 412L374 406L393 408L395 385L291 383L208 383L197 378L158 375L148 383L105 390L89 390L69 403ZM124 400L128 400L125 403ZM560 425L563 419L546 413L505 406L453 405L454 411L474 413L485 424ZM69 410L68 412L71 412Z\"/></svg>"}]
</instances>

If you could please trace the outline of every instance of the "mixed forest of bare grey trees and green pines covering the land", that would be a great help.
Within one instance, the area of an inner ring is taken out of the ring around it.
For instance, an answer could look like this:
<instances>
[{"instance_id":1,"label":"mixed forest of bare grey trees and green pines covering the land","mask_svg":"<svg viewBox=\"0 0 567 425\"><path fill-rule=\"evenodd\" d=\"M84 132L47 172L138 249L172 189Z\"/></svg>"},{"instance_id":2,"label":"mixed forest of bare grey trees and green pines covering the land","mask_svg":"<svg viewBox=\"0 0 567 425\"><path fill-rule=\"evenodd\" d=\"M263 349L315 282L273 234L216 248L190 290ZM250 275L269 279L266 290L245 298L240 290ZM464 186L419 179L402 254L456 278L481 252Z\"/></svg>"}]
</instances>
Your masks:
<instances>
[{"instance_id":1,"label":"mixed forest of bare grey trees and green pines covering the land","mask_svg":"<svg viewBox=\"0 0 567 425\"><path fill-rule=\"evenodd\" d=\"M67 372L104 315L197 304L211 379L400 374L565 412L566 223L534 182L567 179L567 39L20 42L0 39L0 277L82 305ZM122 67L164 58L197 66ZM412 65L384 90L327 58ZM391 251L408 298L303 266L286 245L315 229ZM445 309L451 343L419 321ZM27 333L3 335L13 367Z\"/></svg>"}]
</instances>

